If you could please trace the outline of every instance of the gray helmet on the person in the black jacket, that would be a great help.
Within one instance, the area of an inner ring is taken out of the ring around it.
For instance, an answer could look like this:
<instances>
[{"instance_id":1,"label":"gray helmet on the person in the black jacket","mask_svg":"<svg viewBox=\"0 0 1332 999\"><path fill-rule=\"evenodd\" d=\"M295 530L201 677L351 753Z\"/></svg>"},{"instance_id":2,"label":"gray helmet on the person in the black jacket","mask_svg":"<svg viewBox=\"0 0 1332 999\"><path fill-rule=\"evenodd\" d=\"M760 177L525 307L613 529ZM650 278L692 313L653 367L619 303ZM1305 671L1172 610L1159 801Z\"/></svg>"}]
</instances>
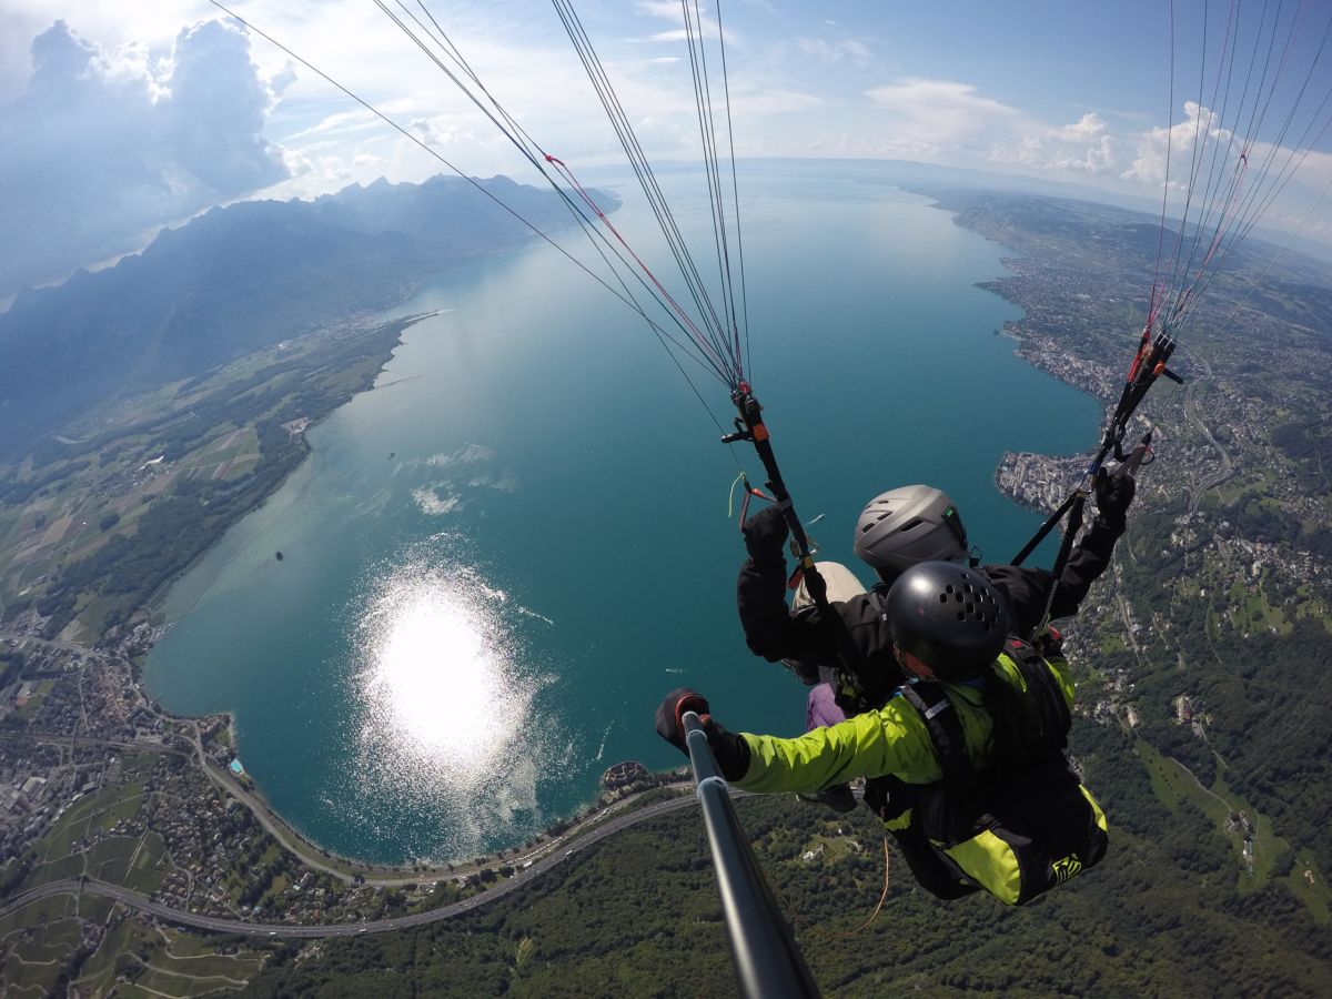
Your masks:
<instances>
[{"instance_id":1,"label":"gray helmet on the person in the black jacket","mask_svg":"<svg viewBox=\"0 0 1332 999\"><path fill-rule=\"evenodd\" d=\"M880 493L855 525L855 554L875 569L902 570L931 559L960 562L967 551L958 507L932 486Z\"/></svg>"}]
</instances>

